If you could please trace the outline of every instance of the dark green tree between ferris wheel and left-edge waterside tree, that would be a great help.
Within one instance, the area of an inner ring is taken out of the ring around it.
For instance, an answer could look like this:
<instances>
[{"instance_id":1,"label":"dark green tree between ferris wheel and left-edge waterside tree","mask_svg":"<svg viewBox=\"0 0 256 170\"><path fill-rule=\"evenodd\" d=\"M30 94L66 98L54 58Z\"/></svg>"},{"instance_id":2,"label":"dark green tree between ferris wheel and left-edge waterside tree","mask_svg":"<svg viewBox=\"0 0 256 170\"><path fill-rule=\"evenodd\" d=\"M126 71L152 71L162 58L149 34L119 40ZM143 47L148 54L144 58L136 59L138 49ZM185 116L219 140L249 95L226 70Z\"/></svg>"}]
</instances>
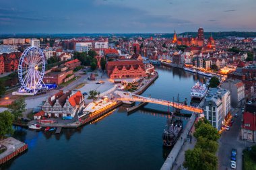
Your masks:
<instances>
[{"instance_id":1,"label":"dark green tree between ferris wheel and left-edge waterside tree","mask_svg":"<svg viewBox=\"0 0 256 170\"><path fill-rule=\"evenodd\" d=\"M18 120L19 117L22 117L22 113L26 111L26 102L23 97L16 99L9 106L9 111L13 114L14 119Z\"/></svg>"}]
</instances>

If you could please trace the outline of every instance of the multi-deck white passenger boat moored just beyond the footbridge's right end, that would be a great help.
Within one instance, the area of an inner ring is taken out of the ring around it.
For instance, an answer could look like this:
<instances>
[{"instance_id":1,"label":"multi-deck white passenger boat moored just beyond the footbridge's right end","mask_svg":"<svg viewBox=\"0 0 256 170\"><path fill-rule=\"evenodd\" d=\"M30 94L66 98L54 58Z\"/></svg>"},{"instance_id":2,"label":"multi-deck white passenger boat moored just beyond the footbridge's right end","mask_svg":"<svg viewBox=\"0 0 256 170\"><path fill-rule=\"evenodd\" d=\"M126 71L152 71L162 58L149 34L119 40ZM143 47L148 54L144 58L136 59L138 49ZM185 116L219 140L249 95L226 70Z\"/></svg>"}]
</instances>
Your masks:
<instances>
[{"instance_id":1,"label":"multi-deck white passenger boat moored just beyond the footbridge's right end","mask_svg":"<svg viewBox=\"0 0 256 170\"><path fill-rule=\"evenodd\" d=\"M195 85L192 87L191 89L191 99L195 98L195 99L203 99L203 97L205 97L206 93L207 93L208 89L206 87L205 84L200 84L199 81L197 81L197 83L195 83Z\"/></svg>"}]
</instances>

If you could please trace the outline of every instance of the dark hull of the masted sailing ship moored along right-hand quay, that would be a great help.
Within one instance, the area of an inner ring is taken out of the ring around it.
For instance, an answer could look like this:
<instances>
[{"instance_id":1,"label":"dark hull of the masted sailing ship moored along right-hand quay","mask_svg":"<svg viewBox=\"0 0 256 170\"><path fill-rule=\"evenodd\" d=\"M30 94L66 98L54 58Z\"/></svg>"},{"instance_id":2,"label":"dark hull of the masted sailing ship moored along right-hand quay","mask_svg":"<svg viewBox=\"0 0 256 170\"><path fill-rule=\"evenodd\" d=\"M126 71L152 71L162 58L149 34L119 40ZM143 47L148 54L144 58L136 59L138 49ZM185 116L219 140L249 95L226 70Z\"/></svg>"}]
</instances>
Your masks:
<instances>
[{"instance_id":1,"label":"dark hull of the masted sailing ship moored along right-hand quay","mask_svg":"<svg viewBox=\"0 0 256 170\"><path fill-rule=\"evenodd\" d=\"M177 142L183 129L183 120L168 118L166 128L162 134L162 142L164 146L173 146Z\"/></svg>"}]
</instances>

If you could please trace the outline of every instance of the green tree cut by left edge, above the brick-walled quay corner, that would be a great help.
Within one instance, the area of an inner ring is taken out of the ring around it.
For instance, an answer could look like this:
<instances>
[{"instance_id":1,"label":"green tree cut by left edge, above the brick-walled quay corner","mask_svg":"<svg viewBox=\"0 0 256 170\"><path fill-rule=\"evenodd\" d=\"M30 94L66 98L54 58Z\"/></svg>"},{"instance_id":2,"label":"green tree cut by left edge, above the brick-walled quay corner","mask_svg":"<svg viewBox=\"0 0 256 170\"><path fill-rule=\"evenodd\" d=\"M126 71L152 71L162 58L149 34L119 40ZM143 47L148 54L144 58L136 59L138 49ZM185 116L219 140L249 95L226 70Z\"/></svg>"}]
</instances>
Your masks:
<instances>
[{"instance_id":1,"label":"green tree cut by left edge, above the brick-walled quay corner","mask_svg":"<svg viewBox=\"0 0 256 170\"><path fill-rule=\"evenodd\" d=\"M0 113L0 138L7 134L13 134L12 122L14 116L8 111L5 110Z\"/></svg>"}]
</instances>

